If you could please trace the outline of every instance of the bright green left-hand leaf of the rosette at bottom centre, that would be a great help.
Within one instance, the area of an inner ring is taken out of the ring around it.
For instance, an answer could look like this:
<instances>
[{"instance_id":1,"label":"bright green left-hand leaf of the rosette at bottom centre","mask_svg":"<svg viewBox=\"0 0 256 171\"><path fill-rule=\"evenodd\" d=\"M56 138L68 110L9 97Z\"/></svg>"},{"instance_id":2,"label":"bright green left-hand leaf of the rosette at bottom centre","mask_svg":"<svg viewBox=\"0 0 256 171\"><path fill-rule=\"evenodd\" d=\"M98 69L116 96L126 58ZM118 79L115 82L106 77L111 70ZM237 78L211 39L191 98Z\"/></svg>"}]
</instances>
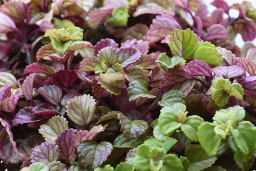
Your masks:
<instances>
[{"instance_id":1,"label":"bright green left-hand leaf of the rosette at bottom centre","mask_svg":"<svg viewBox=\"0 0 256 171\"><path fill-rule=\"evenodd\" d=\"M151 147L142 144L136 149L136 156L133 158L133 165L136 171L149 171L149 153Z\"/></svg>"}]
</instances>

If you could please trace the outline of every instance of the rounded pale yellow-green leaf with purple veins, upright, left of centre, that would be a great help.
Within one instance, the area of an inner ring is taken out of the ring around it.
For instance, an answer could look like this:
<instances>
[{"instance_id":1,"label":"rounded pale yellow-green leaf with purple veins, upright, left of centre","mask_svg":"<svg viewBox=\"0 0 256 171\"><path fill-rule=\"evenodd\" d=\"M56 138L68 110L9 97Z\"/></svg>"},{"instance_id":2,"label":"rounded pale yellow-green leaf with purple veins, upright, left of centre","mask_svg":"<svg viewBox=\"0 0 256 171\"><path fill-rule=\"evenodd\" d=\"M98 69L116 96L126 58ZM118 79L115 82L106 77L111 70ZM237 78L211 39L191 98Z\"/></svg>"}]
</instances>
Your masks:
<instances>
[{"instance_id":1,"label":"rounded pale yellow-green leaf with purple veins, upright, left of centre","mask_svg":"<svg viewBox=\"0 0 256 171\"><path fill-rule=\"evenodd\" d=\"M88 125L96 109L95 99L90 94L74 97L68 102L67 116L77 125Z\"/></svg>"}]
</instances>

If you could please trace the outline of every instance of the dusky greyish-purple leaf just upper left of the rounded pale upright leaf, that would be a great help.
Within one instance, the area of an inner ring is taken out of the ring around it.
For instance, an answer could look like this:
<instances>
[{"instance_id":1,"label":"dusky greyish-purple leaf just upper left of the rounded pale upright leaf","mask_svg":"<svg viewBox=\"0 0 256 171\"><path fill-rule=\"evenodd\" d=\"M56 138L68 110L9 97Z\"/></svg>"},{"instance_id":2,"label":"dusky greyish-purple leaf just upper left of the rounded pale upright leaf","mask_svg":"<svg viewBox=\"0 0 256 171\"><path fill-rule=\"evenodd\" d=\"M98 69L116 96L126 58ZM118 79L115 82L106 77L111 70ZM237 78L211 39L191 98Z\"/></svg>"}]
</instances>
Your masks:
<instances>
[{"instance_id":1,"label":"dusky greyish-purple leaf just upper left of the rounded pale upright leaf","mask_svg":"<svg viewBox=\"0 0 256 171\"><path fill-rule=\"evenodd\" d=\"M45 85L36 90L51 105L59 105L62 97L62 90L55 85Z\"/></svg>"}]
</instances>

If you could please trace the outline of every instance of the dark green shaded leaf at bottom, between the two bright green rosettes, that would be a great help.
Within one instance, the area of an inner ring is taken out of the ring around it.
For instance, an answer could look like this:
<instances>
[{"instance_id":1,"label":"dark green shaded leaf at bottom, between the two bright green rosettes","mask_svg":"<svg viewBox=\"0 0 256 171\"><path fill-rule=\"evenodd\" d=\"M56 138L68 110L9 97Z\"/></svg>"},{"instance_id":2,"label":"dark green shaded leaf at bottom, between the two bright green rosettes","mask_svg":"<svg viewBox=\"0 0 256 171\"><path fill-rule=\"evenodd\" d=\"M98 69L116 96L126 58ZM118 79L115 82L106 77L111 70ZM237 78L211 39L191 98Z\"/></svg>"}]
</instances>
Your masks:
<instances>
[{"instance_id":1,"label":"dark green shaded leaf at bottom, between the two bright green rosettes","mask_svg":"<svg viewBox=\"0 0 256 171\"><path fill-rule=\"evenodd\" d=\"M188 171L201 171L212 166L217 160L216 156L208 156L201 145L190 145L184 156L189 160Z\"/></svg>"}]
</instances>

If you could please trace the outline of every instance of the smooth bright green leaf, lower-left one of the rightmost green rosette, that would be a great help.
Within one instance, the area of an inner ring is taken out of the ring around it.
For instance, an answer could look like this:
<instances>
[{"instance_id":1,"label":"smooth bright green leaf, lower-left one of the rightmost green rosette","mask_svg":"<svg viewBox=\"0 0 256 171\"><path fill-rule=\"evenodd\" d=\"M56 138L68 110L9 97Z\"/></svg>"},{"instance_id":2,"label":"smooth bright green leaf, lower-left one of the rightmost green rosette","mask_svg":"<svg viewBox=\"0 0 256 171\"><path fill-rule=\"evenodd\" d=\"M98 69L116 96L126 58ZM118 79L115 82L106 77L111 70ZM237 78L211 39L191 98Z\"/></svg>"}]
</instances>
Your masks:
<instances>
[{"instance_id":1,"label":"smooth bright green leaf, lower-left one of the rightmost green rosette","mask_svg":"<svg viewBox=\"0 0 256 171\"><path fill-rule=\"evenodd\" d=\"M204 122L198 127L198 140L209 156L214 156L220 146L221 138L216 135L215 124Z\"/></svg>"}]
</instances>

